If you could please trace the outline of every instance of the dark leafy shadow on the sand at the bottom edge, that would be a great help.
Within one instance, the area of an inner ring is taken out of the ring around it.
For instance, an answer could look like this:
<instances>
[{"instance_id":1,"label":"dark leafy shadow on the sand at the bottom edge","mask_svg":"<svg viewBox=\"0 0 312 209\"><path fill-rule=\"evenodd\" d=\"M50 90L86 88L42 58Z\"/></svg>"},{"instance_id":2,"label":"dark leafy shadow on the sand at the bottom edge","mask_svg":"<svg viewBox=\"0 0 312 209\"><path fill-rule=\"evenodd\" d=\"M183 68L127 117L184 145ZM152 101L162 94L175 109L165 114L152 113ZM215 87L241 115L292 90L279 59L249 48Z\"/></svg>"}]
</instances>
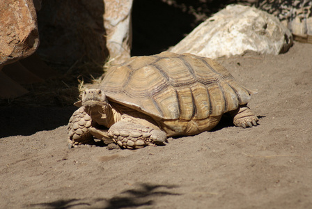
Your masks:
<instances>
[{"instance_id":1,"label":"dark leafy shadow on the sand at the bottom edge","mask_svg":"<svg viewBox=\"0 0 312 209\"><path fill-rule=\"evenodd\" d=\"M120 192L120 194L113 196L111 199L61 199L50 203L33 203L30 204L29 207L68 209L75 206L85 206L86 208L118 209L139 206L153 206L155 204L153 198L155 197L181 195L168 191L169 189L176 188L176 185L155 185L150 183L140 183L136 187L138 188L127 189L124 192Z\"/></svg>"}]
</instances>

